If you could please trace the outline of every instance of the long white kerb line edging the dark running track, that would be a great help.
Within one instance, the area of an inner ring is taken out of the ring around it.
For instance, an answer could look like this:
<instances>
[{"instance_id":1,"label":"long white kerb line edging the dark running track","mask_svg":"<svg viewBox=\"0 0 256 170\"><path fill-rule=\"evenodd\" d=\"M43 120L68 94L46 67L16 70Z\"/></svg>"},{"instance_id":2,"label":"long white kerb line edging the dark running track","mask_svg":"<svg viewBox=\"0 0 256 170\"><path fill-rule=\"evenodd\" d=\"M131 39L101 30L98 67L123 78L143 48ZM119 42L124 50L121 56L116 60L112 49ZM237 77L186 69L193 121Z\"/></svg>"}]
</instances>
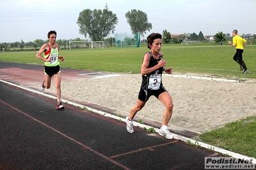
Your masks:
<instances>
[{"instance_id":1,"label":"long white kerb line edging the dark running track","mask_svg":"<svg viewBox=\"0 0 256 170\"><path fill-rule=\"evenodd\" d=\"M1 82L4 82L6 84L9 84L11 86L15 86L17 88L21 88L21 89L24 89L24 90L27 90L27 91L30 91L30 92L33 92L33 93L37 93L39 95L42 95L44 97L48 97L48 98L53 98L55 99L56 97L54 97L53 95L48 95L46 93L43 93L41 91L37 91L35 89L31 89L31 88L28 88L26 86L21 86L19 84L14 84L12 82L8 82L8 81L3 81L0 79ZM107 112L103 112L103 111L98 111L97 109L93 109L92 107L87 107L86 105L81 105L81 104L77 104L76 102L72 102L72 101L69 101L69 100L65 100L65 99L62 99L62 102L64 103L67 103L67 104L70 104L70 105L74 105L76 107L80 107L81 109L87 109L88 111L92 111L92 112L96 112L98 114L101 114L102 116L105 116L105 117L108 117L108 118L113 118L115 120L121 120L123 121L124 123L126 122L125 118L120 118L119 116L115 116L113 114L109 114ZM149 128L155 128L155 127L151 127L151 126L148 126L148 125L143 125L141 123L138 123L138 122L135 122L133 121L133 125L135 127L140 127L140 128L146 128L146 129L149 129ZM155 132L159 132L159 128L155 128ZM201 146L202 148L206 148L208 150L212 150L212 151L216 151L216 152L219 152L219 153L223 153L223 154L226 154L226 155L230 155L231 157L234 157L234 158L241 158L244 160L250 160L252 159L252 163L253 164L256 164L256 159L255 158L252 158L252 157L247 157L246 155L241 155L239 153L235 153L233 151L228 151L228 150L224 150L222 148L219 148L219 147L216 147L216 146L212 146L210 144L206 144L206 143L201 143L200 141L195 141L194 139L190 139L188 137L184 137L182 135L178 135L178 134L173 134L173 136L175 137L175 139L177 140L180 140L180 141L183 141L185 143L187 143L187 141L190 141L190 143L192 144L196 144L198 146Z\"/></svg>"}]
</instances>

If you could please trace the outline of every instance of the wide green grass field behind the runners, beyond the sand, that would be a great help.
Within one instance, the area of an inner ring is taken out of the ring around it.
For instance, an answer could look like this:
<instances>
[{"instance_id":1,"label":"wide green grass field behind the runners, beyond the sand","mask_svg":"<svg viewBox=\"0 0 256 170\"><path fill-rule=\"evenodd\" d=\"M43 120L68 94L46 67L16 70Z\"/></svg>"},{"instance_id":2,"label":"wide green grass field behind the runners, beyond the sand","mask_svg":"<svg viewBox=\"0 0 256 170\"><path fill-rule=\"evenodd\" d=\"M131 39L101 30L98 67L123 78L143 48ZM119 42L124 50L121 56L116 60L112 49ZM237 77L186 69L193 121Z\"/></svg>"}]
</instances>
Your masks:
<instances>
[{"instance_id":1,"label":"wide green grass field behind the runners, beyond the sand","mask_svg":"<svg viewBox=\"0 0 256 170\"><path fill-rule=\"evenodd\" d=\"M235 48L230 45L187 46L163 45L164 59L167 66L173 67L173 73L209 73L216 77L256 78L255 45L247 45L243 58L250 72L243 74L239 65L233 60ZM142 57L149 49L140 48L107 48L84 50L60 50L65 57L60 65L67 68L81 68L88 70L139 73ZM20 63L37 63L42 61L35 58L35 51L0 53L1 61Z\"/></svg>"}]
</instances>

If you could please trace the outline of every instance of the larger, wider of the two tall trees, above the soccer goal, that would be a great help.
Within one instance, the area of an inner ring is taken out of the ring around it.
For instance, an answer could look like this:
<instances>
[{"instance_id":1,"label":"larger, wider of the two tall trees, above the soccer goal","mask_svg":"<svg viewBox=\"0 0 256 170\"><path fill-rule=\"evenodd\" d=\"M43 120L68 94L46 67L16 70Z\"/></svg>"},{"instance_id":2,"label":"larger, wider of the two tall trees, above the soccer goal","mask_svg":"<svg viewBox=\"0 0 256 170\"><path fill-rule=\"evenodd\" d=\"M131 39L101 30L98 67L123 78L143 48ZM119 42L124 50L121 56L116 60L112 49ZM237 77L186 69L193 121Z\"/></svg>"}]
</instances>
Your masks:
<instances>
[{"instance_id":1,"label":"larger, wider of the two tall trees, above the soccer goal","mask_svg":"<svg viewBox=\"0 0 256 170\"><path fill-rule=\"evenodd\" d=\"M81 35L92 39L92 41L103 40L110 31L115 30L115 25L118 23L116 14L102 10L83 10L79 13L78 20L76 22L80 27L79 31Z\"/></svg>"}]
</instances>

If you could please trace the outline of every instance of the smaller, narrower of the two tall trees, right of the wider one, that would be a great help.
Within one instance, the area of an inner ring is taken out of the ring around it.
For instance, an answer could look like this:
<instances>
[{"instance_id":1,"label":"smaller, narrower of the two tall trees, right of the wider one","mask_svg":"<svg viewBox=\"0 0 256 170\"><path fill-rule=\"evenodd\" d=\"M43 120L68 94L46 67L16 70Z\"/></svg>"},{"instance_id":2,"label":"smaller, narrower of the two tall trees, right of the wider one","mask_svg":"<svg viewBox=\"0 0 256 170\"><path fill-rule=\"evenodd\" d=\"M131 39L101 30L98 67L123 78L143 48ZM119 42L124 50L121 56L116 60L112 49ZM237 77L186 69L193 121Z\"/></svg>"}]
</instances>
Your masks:
<instances>
[{"instance_id":1,"label":"smaller, narrower of the two tall trees, right of the wider one","mask_svg":"<svg viewBox=\"0 0 256 170\"><path fill-rule=\"evenodd\" d=\"M133 34L140 32L143 36L146 34L146 31L150 31L152 29L152 24L148 22L147 14L140 10L131 10L125 14L125 17Z\"/></svg>"}]
</instances>

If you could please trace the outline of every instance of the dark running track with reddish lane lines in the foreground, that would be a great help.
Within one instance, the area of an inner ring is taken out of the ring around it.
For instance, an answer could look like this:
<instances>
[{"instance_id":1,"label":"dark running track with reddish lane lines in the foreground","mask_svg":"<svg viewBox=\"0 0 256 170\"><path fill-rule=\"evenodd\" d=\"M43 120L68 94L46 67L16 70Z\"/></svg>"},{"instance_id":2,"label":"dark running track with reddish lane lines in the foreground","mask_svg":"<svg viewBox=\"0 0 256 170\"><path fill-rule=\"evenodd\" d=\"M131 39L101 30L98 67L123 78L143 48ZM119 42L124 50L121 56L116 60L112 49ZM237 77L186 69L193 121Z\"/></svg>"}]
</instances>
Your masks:
<instances>
[{"instance_id":1,"label":"dark running track with reddish lane lines in the foreground","mask_svg":"<svg viewBox=\"0 0 256 170\"><path fill-rule=\"evenodd\" d=\"M221 156L137 127L129 134L124 122L55 104L0 82L0 169L204 169L205 157Z\"/></svg>"}]
</instances>

